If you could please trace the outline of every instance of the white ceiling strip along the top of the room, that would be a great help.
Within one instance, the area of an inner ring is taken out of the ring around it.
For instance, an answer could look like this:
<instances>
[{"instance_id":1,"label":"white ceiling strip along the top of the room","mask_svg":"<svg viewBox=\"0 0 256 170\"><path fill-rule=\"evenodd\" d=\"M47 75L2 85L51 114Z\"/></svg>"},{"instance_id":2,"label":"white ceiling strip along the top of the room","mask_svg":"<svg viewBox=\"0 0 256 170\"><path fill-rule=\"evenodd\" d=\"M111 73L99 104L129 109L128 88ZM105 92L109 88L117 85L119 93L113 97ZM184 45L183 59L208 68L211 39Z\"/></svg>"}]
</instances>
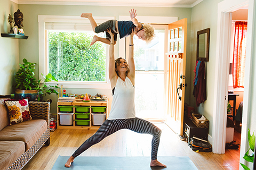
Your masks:
<instances>
[{"instance_id":1,"label":"white ceiling strip along the top of the room","mask_svg":"<svg viewBox=\"0 0 256 170\"><path fill-rule=\"evenodd\" d=\"M11 0L17 4L193 7L203 0Z\"/></svg>"}]
</instances>

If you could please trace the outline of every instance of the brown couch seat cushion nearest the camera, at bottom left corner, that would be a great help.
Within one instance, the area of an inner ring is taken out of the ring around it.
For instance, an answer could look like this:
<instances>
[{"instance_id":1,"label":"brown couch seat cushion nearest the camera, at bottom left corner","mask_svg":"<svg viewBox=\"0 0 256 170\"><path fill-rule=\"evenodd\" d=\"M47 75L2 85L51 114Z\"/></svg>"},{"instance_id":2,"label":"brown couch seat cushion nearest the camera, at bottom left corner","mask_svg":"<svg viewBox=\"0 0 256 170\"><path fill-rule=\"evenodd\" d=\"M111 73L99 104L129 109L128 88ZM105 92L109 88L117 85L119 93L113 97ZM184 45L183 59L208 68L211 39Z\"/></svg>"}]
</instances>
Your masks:
<instances>
[{"instance_id":1,"label":"brown couch seat cushion nearest the camera, at bottom left corner","mask_svg":"<svg viewBox=\"0 0 256 170\"><path fill-rule=\"evenodd\" d=\"M7 169L25 152L22 141L0 141L0 167Z\"/></svg>"}]
</instances>

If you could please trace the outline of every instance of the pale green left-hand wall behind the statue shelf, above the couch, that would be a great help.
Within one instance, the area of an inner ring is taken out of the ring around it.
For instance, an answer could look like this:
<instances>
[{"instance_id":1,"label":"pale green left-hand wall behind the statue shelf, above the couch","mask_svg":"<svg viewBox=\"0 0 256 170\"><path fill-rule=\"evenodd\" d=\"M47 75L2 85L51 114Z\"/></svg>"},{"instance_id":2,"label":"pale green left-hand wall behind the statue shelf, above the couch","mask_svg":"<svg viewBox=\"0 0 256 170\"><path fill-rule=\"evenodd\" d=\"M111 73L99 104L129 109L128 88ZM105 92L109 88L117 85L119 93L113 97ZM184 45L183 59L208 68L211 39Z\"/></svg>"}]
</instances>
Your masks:
<instances>
[{"instance_id":1,"label":"pale green left-hand wall behind the statue shelf, above the couch","mask_svg":"<svg viewBox=\"0 0 256 170\"><path fill-rule=\"evenodd\" d=\"M10 0L1 0L0 32L8 33L10 24L9 14L18 10L18 5ZM13 93L14 73L19 68L19 42L22 40L0 37L0 95Z\"/></svg>"}]
</instances>

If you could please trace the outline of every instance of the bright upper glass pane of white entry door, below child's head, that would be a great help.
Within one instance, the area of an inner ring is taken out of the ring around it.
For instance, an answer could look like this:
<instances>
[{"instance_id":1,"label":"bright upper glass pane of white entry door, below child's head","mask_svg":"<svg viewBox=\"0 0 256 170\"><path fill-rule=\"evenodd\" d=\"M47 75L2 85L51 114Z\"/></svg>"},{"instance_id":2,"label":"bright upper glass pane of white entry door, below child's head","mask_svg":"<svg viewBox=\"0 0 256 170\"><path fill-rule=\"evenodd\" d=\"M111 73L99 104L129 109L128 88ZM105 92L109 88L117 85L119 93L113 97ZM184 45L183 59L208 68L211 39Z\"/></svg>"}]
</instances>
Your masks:
<instances>
[{"instance_id":1,"label":"bright upper glass pane of white entry door, below child's head","mask_svg":"<svg viewBox=\"0 0 256 170\"><path fill-rule=\"evenodd\" d=\"M156 36L147 44L134 36L134 61L136 70L164 70L164 30L155 30Z\"/></svg>"}]
</instances>

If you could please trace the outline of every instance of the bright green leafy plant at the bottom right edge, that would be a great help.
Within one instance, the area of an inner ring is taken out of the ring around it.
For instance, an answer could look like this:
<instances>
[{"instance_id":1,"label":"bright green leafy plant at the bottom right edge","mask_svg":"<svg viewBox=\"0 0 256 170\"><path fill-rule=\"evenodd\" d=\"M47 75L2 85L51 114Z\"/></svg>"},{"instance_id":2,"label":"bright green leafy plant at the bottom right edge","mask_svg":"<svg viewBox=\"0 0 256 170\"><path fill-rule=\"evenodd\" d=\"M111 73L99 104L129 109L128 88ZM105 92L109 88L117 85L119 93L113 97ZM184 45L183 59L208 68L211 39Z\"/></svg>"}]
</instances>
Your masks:
<instances>
[{"instance_id":1,"label":"bright green leafy plant at the bottom right edge","mask_svg":"<svg viewBox=\"0 0 256 170\"><path fill-rule=\"evenodd\" d=\"M250 163L253 163L253 157L254 157L254 150L255 150L255 135L254 135L254 132L252 133L251 135L251 132L250 132L250 129L248 129L248 141L249 141L249 150L244 154L244 159L247 161L247 162L250 162ZM252 151L252 154L249 155L249 151ZM242 165L242 167L245 169L245 170L250 170L249 167L247 167L246 165L240 163Z\"/></svg>"}]
</instances>

